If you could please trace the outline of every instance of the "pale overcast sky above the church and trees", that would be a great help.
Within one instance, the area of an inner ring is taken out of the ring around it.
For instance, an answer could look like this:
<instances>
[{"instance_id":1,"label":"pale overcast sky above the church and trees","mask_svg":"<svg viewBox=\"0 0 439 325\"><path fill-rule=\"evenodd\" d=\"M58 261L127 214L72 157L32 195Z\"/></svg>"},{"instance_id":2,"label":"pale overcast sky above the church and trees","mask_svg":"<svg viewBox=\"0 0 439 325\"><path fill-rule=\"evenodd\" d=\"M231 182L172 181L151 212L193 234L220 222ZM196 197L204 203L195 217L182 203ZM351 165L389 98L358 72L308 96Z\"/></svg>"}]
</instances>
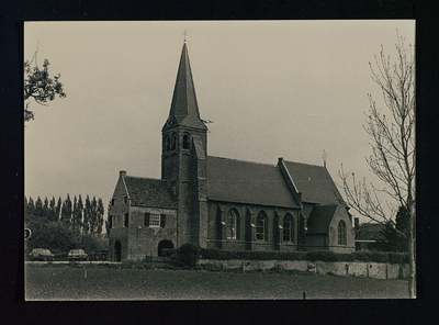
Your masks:
<instances>
[{"instance_id":1,"label":"pale overcast sky above the church and trees","mask_svg":"<svg viewBox=\"0 0 439 325\"><path fill-rule=\"evenodd\" d=\"M27 22L24 58L38 48L67 93L31 102L27 198L95 195L106 216L120 170L160 178L184 30L200 114L214 121L209 155L323 165L325 150L337 183L341 164L375 180L362 124L367 94L382 94L369 61L381 45L395 58L396 30L414 44L415 21Z\"/></svg>"}]
</instances>

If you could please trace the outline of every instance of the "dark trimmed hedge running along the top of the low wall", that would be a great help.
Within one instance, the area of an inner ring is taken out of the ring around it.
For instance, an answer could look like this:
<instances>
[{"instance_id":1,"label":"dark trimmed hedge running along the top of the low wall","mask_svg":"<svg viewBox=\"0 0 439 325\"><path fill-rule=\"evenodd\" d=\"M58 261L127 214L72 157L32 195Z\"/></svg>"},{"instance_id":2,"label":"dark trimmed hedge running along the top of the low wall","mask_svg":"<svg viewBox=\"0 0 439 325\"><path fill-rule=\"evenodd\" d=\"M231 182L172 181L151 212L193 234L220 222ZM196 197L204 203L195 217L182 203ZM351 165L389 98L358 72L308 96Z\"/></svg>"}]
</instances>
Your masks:
<instances>
[{"instance_id":1,"label":"dark trimmed hedge running along the top of the low wall","mask_svg":"<svg viewBox=\"0 0 439 325\"><path fill-rule=\"evenodd\" d=\"M201 248L202 259L247 259L247 260L311 260L311 261L374 261L389 264L407 264L407 253L386 251L353 251L334 253L331 250L311 251L256 251L256 250L222 250L217 248Z\"/></svg>"}]
</instances>

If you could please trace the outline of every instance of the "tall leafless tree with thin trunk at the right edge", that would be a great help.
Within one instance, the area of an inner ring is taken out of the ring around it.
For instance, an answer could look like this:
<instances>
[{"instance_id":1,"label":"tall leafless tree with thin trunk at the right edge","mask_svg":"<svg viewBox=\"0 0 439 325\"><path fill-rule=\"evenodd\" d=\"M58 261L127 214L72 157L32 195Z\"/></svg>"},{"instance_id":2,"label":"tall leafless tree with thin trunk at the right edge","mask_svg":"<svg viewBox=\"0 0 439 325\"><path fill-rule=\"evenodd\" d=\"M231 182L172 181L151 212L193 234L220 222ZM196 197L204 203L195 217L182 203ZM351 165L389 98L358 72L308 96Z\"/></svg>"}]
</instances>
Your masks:
<instances>
[{"instance_id":1,"label":"tall leafless tree with thin trunk at the right edge","mask_svg":"<svg viewBox=\"0 0 439 325\"><path fill-rule=\"evenodd\" d=\"M359 214L379 223L395 225L393 216L398 208L409 212L408 234L398 229L407 240L409 255L410 298L416 296L415 284L415 60L412 45L404 47L404 37L396 44L397 58L391 63L381 47L375 55L375 67L369 63L372 79L380 86L384 98L384 110L378 108L371 94L364 131L370 135L372 155L365 158L372 172L383 182L383 188L368 183L365 178L357 181L353 172L345 173L342 166L339 177L348 204ZM390 195L386 205L380 200L380 192Z\"/></svg>"}]
</instances>

